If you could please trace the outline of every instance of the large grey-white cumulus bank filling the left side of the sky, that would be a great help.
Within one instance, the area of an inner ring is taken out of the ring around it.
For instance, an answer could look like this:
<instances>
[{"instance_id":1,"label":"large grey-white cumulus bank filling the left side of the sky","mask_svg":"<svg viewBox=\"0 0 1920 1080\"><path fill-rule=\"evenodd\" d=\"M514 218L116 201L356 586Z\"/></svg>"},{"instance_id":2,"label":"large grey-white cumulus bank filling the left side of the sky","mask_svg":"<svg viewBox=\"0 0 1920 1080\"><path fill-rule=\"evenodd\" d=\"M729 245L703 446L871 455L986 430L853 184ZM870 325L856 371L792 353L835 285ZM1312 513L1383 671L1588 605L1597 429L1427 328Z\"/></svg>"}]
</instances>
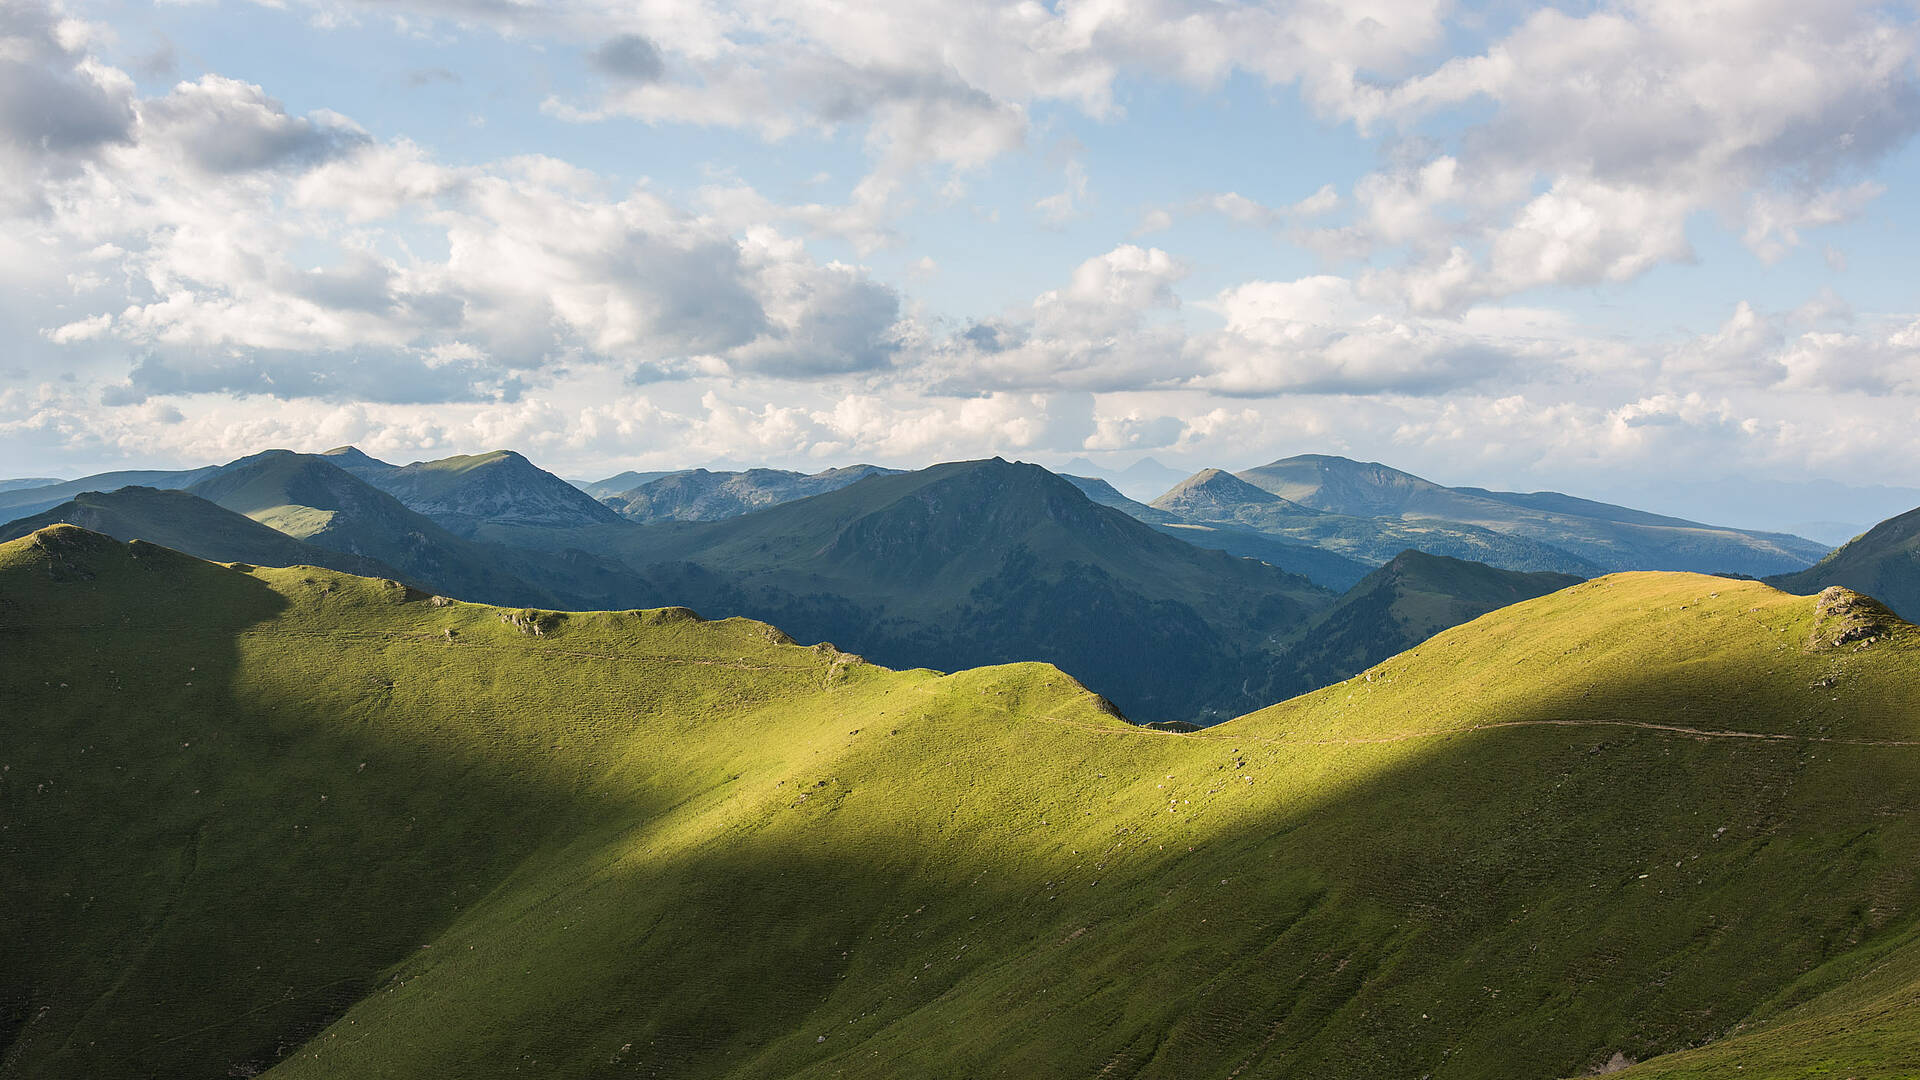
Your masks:
<instances>
[{"instance_id":1,"label":"large grey-white cumulus bank filling the left side of the sky","mask_svg":"<svg viewBox=\"0 0 1920 1080\"><path fill-rule=\"evenodd\" d=\"M578 363L818 379L887 367L908 332L893 288L764 221L609 192L549 158L442 165L219 75L104 98L125 77L19 12L25 44L0 54L13 88L125 106L125 123L61 138L48 117L15 123L8 150L38 208L12 284L60 298L35 327L44 348L136 357L113 402L513 402ZM8 100L0 115L33 113ZM67 113L111 110L50 110Z\"/></svg>"}]
</instances>

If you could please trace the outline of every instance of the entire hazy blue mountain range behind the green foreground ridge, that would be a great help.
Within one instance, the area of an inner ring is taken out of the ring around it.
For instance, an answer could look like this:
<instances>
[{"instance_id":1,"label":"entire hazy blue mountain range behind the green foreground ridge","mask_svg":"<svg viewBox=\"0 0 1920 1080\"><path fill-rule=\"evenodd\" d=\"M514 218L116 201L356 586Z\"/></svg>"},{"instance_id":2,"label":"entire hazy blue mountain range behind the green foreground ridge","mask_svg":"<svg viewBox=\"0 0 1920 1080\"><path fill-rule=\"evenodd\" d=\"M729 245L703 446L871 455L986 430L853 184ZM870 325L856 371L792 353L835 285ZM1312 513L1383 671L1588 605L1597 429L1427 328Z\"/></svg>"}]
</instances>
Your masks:
<instances>
[{"instance_id":1,"label":"entire hazy blue mountain range behind the green foreground ridge","mask_svg":"<svg viewBox=\"0 0 1920 1080\"><path fill-rule=\"evenodd\" d=\"M1041 659L1129 719L1183 724L1323 686L1444 626L1599 573L1524 534L1542 521L1563 532L1609 525L1642 538L1647 559L1659 557L1657 540L1670 552L1674 536L1749 552L1772 542L1567 496L1501 503L1498 492L1331 457L1248 475L1290 484L1306 502L1204 471L1142 505L1100 479L995 459L918 473L674 473L634 488L651 500L645 513L714 519L639 523L513 452L392 465L338 448L159 473L200 502L94 494L4 534L67 521L221 561L392 577L459 600L680 603L772 621L895 667ZM0 498L44 500L88 482ZM804 484L828 490L799 494ZM755 500L770 505L747 511ZM1494 528L1498 515L1473 509L1484 502L1507 505L1524 530ZM1425 517L1440 511L1475 511L1490 525ZM334 555L263 546L252 525ZM1365 557L1331 550L1340 544Z\"/></svg>"}]
</instances>

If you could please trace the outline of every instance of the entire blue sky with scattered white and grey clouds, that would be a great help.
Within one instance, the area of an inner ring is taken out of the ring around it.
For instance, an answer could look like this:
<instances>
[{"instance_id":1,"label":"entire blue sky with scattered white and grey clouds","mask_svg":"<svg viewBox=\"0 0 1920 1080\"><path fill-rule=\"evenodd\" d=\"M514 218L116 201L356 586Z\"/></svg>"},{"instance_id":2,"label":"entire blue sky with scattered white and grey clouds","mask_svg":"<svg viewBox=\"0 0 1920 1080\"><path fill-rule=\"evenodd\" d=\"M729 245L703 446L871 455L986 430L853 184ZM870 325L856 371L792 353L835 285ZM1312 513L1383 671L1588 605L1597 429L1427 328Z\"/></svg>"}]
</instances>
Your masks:
<instances>
[{"instance_id":1,"label":"entire blue sky with scattered white and grey clouds","mask_svg":"<svg viewBox=\"0 0 1920 1080\"><path fill-rule=\"evenodd\" d=\"M1916 125L1912 4L0 0L0 475L1920 486Z\"/></svg>"}]
</instances>

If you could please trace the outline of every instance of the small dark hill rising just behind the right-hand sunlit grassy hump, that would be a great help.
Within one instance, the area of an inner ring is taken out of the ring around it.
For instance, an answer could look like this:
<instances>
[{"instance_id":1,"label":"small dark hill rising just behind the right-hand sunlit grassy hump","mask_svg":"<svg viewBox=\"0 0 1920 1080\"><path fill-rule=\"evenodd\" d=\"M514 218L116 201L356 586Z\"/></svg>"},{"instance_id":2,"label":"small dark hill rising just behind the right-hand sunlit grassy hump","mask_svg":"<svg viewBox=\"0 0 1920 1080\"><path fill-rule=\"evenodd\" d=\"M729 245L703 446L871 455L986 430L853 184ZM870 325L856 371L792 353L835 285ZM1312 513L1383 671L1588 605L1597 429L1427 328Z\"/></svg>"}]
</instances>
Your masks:
<instances>
[{"instance_id":1,"label":"small dark hill rising just behind the right-hand sunlit grassy hump","mask_svg":"<svg viewBox=\"0 0 1920 1080\"><path fill-rule=\"evenodd\" d=\"M1402 552L1321 611L1290 642L1288 655L1304 686L1327 686L1440 630L1582 580Z\"/></svg>"}]
</instances>

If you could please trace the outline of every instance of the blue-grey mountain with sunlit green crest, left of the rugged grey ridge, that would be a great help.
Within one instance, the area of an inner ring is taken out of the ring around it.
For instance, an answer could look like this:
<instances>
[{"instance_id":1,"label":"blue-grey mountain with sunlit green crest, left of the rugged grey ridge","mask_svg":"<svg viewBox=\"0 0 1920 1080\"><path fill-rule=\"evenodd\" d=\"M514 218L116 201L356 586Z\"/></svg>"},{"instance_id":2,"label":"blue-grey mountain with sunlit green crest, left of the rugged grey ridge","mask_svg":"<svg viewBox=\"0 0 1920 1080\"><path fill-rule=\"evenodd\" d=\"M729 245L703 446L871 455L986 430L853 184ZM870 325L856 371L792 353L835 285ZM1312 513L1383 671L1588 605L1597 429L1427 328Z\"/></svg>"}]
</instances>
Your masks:
<instances>
[{"instance_id":1,"label":"blue-grey mountain with sunlit green crest, left of the rugged grey ridge","mask_svg":"<svg viewBox=\"0 0 1920 1080\"><path fill-rule=\"evenodd\" d=\"M328 452L361 480L424 513L444 528L474 536L488 525L574 528L618 521L593 496L511 450L394 467L351 446Z\"/></svg>"}]
</instances>

